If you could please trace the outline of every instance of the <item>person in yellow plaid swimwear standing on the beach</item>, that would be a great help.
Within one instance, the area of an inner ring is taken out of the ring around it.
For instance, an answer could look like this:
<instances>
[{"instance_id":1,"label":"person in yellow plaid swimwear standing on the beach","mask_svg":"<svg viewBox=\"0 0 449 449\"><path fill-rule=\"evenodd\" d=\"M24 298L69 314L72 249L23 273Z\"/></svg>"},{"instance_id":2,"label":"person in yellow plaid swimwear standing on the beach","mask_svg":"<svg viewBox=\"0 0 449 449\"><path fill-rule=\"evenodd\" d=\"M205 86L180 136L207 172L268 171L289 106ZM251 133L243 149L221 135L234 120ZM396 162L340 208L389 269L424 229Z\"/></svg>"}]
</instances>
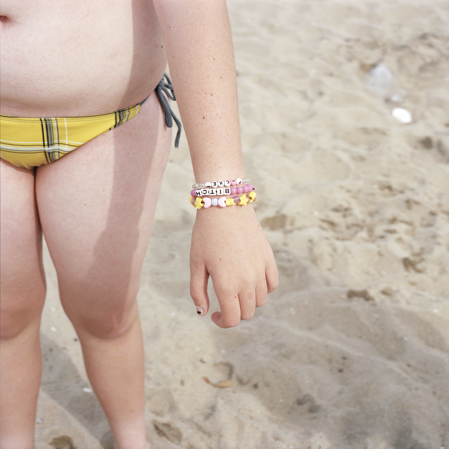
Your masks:
<instances>
[{"instance_id":1,"label":"person in yellow plaid swimwear standing on the beach","mask_svg":"<svg viewBox=\"0 0 449 449\"><path fill-rule=\"evenodd\" d=\"M4 0L1 14L2 128L14 137L0 160L0 448L33 447L42 232L116 446L148 448L136 292L171 142L154 88L168 61L196 182L243 179L225 2ZM278 284L250 204L197 210L190 269L198 314L211 276L223 328Z\"/></svg>"}]
</instances>

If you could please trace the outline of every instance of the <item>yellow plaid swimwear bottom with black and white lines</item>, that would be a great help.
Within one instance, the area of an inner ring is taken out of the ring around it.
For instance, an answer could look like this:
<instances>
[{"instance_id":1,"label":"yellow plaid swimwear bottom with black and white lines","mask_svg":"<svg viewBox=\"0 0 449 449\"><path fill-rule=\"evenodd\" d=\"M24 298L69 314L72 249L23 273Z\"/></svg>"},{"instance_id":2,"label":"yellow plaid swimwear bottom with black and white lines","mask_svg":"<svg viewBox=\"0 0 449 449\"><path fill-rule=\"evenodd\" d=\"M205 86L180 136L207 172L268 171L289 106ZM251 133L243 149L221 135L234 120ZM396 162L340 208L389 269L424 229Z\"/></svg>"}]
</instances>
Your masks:
<instances>
[{"instance_id":1,"label":"yellow plaid swimwear bottom with black and white lines","mask_svg":"<svg viewBox=\"0 0 449 449\"><path fill-rule=\"evenodd\" d=\"M88 117L26 119L0 115L0 157L17 167L51 163L132 119L142 103Z\"/></svg>"}]
</instances>

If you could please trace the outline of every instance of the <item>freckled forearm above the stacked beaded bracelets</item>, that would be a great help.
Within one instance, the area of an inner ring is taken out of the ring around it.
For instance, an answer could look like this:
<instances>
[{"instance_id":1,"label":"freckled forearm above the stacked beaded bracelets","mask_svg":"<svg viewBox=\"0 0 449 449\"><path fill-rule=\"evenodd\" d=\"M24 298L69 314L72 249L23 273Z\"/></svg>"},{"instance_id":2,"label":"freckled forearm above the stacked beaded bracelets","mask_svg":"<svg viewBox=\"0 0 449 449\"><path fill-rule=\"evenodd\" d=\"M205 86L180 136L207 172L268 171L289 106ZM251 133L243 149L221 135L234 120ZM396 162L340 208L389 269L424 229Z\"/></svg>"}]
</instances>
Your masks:
<instances>
[{"instance_id":1,"label":"freckled forearm above the stacked beaded bracelets","mask_svg":"<svg viewBox=\"0 0 449 449\"><path fill-rule=\"evenodd\" d=\"M197 182L243 177L225 1L154 0Z\"/></svg>"}]
</instances>

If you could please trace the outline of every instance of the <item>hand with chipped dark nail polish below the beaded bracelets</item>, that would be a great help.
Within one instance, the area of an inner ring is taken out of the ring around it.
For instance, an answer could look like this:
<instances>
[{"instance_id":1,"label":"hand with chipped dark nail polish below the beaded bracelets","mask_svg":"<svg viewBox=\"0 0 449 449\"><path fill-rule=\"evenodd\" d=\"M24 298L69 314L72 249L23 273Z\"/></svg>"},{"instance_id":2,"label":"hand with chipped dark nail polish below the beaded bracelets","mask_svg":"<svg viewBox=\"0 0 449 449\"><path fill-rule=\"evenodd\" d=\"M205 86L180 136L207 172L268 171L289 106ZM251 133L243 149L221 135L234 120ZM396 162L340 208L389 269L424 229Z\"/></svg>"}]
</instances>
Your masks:
<instances>
[{"instance_id":1,"label":"hand with chipped dark nail polish below the beaded bracelets","mask_svg":"<svg viewBox=\"0 0 449 449\"><path fill-rule=\"evenodd\" d=\"M250 319L279 284L273 251L251 205L199 209L190 247L190 295L197 310L209 310L211 276L220 312L211 315L222 328Z\"/></svg>"}]
</instances>

